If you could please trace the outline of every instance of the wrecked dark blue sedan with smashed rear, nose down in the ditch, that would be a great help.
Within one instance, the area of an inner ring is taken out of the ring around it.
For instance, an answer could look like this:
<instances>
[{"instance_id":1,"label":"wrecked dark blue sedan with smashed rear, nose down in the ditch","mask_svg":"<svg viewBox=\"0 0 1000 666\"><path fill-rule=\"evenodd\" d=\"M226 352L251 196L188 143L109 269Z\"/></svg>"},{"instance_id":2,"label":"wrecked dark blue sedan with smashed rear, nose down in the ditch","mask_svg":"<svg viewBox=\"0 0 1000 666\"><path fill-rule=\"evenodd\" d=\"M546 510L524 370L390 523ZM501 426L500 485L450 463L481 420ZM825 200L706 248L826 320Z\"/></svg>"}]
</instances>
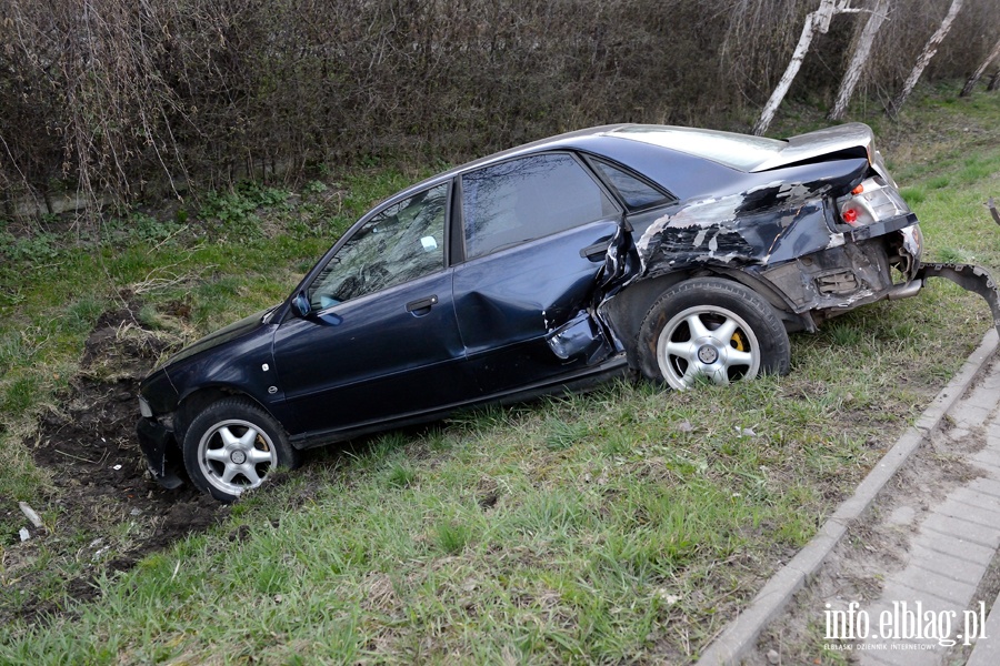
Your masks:
<instances>
[{"instance_id":1,"label":"wrecked dark blue sedan with smashed rear, nose down in the ditch","mask_svg":"<svg viewBox=\"0 0 1000 666\"><path fill-rule=\"evenodd\" d=\"M141 384L139 440L233 501L302 450L623 372L789 370L789 332L940 275L863 124L789 140L621 124L464 164L358 221L281 304Z\"/></svg>"}]
</instances>

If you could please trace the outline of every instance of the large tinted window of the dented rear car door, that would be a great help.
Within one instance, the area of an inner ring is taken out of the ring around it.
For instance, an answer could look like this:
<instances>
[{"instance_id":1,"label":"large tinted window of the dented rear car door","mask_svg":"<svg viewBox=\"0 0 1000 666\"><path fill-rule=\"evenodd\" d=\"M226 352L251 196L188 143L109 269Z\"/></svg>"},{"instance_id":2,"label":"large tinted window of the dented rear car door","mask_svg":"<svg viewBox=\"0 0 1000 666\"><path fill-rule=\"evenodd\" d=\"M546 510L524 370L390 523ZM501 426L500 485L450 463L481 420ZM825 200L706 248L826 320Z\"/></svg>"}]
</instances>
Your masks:
<instances>
[{"instance_id":1,"label":"large tinted window of the dented rear car door","mask_svg":"<svg viewBox=\"0 0 1000 666\"><path fill-rule=\"evenodd\" d=\"M462 176L467 259L618 213L587 170L566 153L510 160Z\"/></svg>"}]
</instances>

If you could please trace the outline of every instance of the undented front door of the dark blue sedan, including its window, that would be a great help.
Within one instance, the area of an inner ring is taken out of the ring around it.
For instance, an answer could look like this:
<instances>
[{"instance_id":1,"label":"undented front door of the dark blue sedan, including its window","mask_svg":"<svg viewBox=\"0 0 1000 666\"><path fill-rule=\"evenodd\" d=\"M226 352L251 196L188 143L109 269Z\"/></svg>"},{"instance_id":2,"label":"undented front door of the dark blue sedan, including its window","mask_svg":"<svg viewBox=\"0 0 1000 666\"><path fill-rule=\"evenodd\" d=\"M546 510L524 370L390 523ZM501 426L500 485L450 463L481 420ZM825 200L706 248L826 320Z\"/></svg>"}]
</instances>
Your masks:
<instances>
[{"instance_id":1,"label":"undented front door of the dark blue sedan, including its window","mask_svg":"<svg viewBox=\"0 0 1000 666\"><path fill-rule=\"evenodd\" d=\"M377 211L307 287L309 314L279 327L292 434L433 410L470 391L446 256L450 190Z\"/></svg>"}]
</instances>

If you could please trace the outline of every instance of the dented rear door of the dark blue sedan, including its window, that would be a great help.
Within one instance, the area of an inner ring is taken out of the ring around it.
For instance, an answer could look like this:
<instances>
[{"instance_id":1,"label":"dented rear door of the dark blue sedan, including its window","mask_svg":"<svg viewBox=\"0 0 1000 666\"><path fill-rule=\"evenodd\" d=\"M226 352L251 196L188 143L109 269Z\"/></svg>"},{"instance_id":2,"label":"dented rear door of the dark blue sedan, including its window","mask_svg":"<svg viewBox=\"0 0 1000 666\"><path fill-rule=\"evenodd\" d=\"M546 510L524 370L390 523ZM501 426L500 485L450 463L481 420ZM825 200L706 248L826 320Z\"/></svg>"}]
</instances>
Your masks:
<instances>
[{"instance_id":1,"label":"dented rear door of the dark blue sedan, including its window","mask_svg":"<svg viewBox=\"0 0 1000 666\"><path fill-rule=\"evenodd\" d=\"M464 262L454 306L480 391L558 380L593 359L563 359L548 336L589 305L622 211L573 154L541 153L461 176Z\"/></svg>"}]
</instances>

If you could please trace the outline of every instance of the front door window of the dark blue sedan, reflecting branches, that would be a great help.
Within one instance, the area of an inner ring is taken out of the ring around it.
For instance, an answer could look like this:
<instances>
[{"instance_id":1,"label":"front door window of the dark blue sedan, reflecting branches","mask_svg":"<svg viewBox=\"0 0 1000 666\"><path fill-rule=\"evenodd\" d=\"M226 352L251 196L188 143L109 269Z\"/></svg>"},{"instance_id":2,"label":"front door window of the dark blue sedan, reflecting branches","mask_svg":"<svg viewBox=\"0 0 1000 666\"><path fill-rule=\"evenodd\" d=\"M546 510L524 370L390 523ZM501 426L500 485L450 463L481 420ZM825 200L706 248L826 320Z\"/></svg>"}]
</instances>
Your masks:
<instances>
[{"instance_id":1,"label":"front door window of the dark blue sedan, reflecting branches","mask_svg":"<svg viewBox=\"0 0 1000 666\"><path fill-rule=\"evenodd\" d=\"M448 184L393 203L358 229L309 289L313 310L422 278L444 268Z\"/></svg>"}]
</instances>

